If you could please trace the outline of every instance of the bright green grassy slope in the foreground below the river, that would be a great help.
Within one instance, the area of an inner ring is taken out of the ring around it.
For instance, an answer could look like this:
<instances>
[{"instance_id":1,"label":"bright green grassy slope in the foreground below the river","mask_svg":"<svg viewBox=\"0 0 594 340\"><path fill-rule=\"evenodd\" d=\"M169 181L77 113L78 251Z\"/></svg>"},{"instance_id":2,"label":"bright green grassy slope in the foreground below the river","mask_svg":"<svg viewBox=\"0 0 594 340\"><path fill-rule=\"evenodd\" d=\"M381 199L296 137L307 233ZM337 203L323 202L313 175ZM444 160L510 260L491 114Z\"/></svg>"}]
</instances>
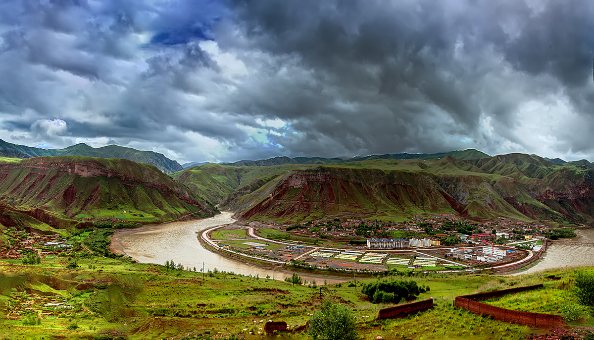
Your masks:
<instances>
[{"instance_id":1,"label":"bright green grassy slope in the foreground below the river","mask_svg":"<svg viewBox=\"0 0 594 340\"><path fill-rule=\"evenodd\" d=\"M68 269L66 266L72 260L77 261L78 267ZM405 276L404 279L430 288L418 300L433 297L434 308L403 319L376 320L380 308L391 306L371 304L361 294L361 284L376 278L358 278L358 287L347 283L322 285L321 280L316 282L317 288L313 282L293 287L287 282L225 272L209 272L203 278L202 273L140 265L126 258L79 254L72 260L56 257L26 266L14 260L0 261L0 314L4 316L0 319L0 339L91 339L101 330L114 329L132 340L162 339L187 332L198 339L218 332L247 334L263 327L259 320L285 321L291 328L305 325L307 314L324 300L353 308L358 316L358 332L364 340L378 335L384 339L519 339L535 330L453 307L454 297L542 283L544 289L490 303L558 314L564 304L573 301L573 269L515 277ZM555 281L550 275L561 279ZM72 308L55 313L43 307L46 300L55 297ZM23 301L31 301L29 310ZM24 325L25 316L33 313L40 318L40 325ZM593 324L592 319L582 322L586 326ZM305 333L285 336L307 338Z\"/></svg>"}]
</instances>

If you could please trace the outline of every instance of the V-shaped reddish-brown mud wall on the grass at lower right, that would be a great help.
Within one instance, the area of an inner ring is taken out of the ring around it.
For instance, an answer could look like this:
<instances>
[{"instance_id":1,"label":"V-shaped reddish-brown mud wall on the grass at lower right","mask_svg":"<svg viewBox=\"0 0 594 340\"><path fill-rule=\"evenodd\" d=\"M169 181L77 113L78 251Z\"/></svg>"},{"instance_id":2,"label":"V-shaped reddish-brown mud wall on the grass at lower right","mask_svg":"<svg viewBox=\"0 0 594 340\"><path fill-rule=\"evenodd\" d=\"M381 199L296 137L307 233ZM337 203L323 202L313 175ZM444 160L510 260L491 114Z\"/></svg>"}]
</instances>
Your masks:
<instances>
[{"instance_id":1,"label":"V-shaped reddish-brown mud wall on the grass at lower right","mask_svg":"<svg viewBox=\"0 0 594 340\"><path fill-rule=\"evenodd\" d=\"M492 316L495 320L503 320L505 322L513 322L525 326L551 328L554 326L563 325L563 317L558 315L511 310L478 302L482 300L488 300L490 298L502 297L503 295L507 294L530 291L532 289L538 289L542 287L542 284L539 284L526 287L503 289L501 291L463 295L456 297L454 306L465 308L466 310L472 311L472 313Z\"/></svg>"}]
</instances>

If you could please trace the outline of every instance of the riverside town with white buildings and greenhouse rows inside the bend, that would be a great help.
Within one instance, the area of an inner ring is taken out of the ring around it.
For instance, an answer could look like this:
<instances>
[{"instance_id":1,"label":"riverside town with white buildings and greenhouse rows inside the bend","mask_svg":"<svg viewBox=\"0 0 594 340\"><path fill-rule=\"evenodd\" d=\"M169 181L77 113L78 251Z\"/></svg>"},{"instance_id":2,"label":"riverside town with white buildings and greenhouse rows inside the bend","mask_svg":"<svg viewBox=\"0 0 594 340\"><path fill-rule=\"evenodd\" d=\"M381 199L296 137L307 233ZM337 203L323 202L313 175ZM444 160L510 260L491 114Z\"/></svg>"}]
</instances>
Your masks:
<instances>
[{"instance_id":1,"label":"riverside town with white buildings and greenhouse rows inside the bend","mask_svg":"<svg viewBox=\"0 0 594 340\"><path fill-rule=\"evenodd\" d=\"M246 259L327 270L517 269L544 251L547 238L573 229L498 219L466 221L451 214L413 216L406 222L317 219L278 225L251 222L206 235L214 247Z\"/></svg>"}]
</instances>

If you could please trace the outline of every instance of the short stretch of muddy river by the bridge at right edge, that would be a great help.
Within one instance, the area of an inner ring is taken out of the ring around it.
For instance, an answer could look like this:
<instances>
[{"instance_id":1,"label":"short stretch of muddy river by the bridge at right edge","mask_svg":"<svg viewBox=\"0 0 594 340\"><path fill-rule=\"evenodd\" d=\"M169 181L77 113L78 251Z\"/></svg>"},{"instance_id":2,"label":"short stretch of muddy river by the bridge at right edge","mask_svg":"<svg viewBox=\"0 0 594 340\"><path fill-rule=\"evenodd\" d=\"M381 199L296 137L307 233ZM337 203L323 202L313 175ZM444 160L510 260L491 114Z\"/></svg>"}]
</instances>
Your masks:
<instances>
[{"instance_id":1,"label":"short stretch of muddy river by the bridge at right edge","mask_svg":"<svg viewBox=\"0 0 594 340\"><path fill-rule=\"evenodd\" d=\"M594 230L576 230L576 234L577 237L568 238L567 240L594 242ZM549 245L546 248L546 252L542 257L541 262L514 275L533 273L545 269L574 266L594 266L594 247L562 244Z\"/></svg>"}]
</instances>

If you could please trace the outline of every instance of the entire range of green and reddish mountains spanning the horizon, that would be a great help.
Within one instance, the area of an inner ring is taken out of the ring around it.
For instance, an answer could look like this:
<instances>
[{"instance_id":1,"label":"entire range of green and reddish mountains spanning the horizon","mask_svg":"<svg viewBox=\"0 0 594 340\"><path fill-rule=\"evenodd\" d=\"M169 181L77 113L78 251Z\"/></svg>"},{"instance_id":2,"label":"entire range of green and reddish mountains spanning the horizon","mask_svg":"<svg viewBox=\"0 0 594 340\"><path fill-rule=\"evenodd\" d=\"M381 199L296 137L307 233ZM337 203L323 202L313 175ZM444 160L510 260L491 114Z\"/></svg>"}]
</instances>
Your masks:
<instances>
[{"instance_id":1,"label":"entire range of green and reddish mountains spanning the horizon","mask_svg":"<svg viewBox=\"0 0 594 340\"><path fill-rule=\"evenodd\" d=\"M45 153L83 155L40 156ZM97 153L110 158L87 156ZM161 154L119 146L44 150L5 142L0 156L0 211L8 215L37 209L37 215L65 221L162 222L212 216L218 208L247 221L406 220L451 213L477 221L594 222L594 166L587 160L467 149L350 159L276 157L180 169ZM129 160L134 157L142 161ZM163 174L165 165L179 171Z\"/></svg>"}]
</instances>

